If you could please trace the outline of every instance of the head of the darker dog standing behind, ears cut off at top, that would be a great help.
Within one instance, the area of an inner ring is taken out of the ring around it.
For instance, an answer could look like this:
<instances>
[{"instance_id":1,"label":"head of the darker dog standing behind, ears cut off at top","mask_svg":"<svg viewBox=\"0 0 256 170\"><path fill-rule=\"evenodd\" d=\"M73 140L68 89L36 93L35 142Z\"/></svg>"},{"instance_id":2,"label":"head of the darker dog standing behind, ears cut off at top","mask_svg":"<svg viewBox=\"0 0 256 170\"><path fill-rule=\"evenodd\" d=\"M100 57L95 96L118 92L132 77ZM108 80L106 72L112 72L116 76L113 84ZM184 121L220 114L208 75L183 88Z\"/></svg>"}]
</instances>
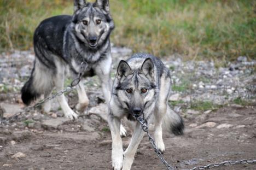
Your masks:
<instances>
[{"instance_id":1,"label":"head of the darker dog standing behind, ears cut off at top","mask_svg":"<svg viewBox=\"0 0 256 170\"><path fill-rule=\"evenodd\" d=\"M74 0L74 34L90 49L97 49L114 29L108 0Z\"/></svg>"}]
</instances>

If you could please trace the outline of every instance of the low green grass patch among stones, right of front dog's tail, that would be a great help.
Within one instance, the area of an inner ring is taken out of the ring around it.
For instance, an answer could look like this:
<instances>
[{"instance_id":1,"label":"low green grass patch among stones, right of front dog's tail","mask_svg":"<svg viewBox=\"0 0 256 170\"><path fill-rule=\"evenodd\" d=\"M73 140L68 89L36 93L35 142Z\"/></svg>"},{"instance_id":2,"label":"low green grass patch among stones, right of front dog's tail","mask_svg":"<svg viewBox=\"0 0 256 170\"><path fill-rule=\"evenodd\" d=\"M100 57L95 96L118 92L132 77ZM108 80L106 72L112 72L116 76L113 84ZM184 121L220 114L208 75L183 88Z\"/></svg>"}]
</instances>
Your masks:
<instances>
[{"instance_id":1,"label":"low green grass patch among stones, right of front dog's tail","mask_svg":"<svg viewBox=\"0 0 256 170\"><path fill-rule=\"evenodd\" d=\"M222 107L222 105L217 105L210 101L193 101L190 103L190 109L200 110L202 112L206 110L216 110L220 107Z\"/></svg>"}]
</instances>

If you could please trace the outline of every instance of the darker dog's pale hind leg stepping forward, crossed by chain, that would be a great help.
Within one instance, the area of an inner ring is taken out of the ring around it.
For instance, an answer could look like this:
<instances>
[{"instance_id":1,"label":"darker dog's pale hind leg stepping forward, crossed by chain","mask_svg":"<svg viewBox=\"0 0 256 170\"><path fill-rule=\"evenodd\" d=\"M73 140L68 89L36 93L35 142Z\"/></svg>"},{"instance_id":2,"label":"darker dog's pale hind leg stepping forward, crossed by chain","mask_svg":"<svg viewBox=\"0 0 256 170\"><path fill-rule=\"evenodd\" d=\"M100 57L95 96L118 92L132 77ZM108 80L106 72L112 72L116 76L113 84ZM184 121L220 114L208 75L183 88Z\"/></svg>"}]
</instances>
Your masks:
<instances>
[{"instance_id":1,"label":"darker dog's pale hind leg stepping forward, crossed by chain","mask_svg":"<svg viewBox=\"0 0 256 170\"><path fill-rule=\"evenodd\" d=\"M65 80L65 63L63 61L57 61L56 62L56 74L54 78L54 84L56 87L56 91L62 91L64 86L64 80ZM70 119L77 119L77 114L69 107L66 98L64 94L57 97L57 101L60 104L60 107L63 110L63 113L66 118Z\"/></svg>"}]
</instances>

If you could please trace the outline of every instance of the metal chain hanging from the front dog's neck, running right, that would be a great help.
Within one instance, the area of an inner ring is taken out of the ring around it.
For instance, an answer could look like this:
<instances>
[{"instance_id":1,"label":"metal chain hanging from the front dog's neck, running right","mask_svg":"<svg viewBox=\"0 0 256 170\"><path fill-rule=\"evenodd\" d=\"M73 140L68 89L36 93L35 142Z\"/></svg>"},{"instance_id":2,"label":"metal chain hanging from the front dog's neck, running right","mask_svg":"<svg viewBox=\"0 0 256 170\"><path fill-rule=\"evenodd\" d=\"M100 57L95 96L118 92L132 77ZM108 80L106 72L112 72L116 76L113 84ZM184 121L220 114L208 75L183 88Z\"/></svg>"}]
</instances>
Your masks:
<instances>
[{"instance_id":1,"label":"metal chain hanging from the front dog's neck, running right","mask_svg":"<svg viewBox=\"0 0 256 170\"><path fill-rule=\"evenodd\" d=\"M141 116L136 118L136 119L139 122L139 124L141 124L142 130L147 133L148 138L149 138L149 142L152 144L152 146L155 150L155 153L158 155L161 162L164 163L164 165L167 167L167 169L174 170L174 168L172 166L170 166L165 161L164 157L162 157L162 154L159 151L158 147L156 146L153 137L149 134L147 121L144 118L141 118ZM237 164L251 164L251 163L256 163L256 160L224 161L224 162L220 162L220 163L210 163L206 166L194 167L194 168L189 169L189 170L202 170L202 169L216 168L216 167L220 167L220 166L229 166L229 165L237 165Z\"/></svg>"}]
</instances>

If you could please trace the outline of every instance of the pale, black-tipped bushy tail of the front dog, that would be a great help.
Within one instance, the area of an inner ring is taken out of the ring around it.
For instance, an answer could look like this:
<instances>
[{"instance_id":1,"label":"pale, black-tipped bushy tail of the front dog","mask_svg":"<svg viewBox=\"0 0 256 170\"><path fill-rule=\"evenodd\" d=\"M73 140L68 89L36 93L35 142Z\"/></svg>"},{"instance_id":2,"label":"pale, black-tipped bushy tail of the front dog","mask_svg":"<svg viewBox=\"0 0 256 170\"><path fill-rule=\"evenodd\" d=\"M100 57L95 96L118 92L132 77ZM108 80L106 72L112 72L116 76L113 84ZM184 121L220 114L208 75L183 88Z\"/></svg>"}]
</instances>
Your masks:
<instances>
[{"instance_id":1,"label":"pale, black-tipped bushy tail of the front dog","mask_svg":"<svg viewBox=\"0 0 256 170\"><path fill-rule=\"evenodd\" d=\"M162 128L175 135L182 135L184 131L184 123L181 116L174 112L168 105Z\"/></svg>"}]
</instances>

